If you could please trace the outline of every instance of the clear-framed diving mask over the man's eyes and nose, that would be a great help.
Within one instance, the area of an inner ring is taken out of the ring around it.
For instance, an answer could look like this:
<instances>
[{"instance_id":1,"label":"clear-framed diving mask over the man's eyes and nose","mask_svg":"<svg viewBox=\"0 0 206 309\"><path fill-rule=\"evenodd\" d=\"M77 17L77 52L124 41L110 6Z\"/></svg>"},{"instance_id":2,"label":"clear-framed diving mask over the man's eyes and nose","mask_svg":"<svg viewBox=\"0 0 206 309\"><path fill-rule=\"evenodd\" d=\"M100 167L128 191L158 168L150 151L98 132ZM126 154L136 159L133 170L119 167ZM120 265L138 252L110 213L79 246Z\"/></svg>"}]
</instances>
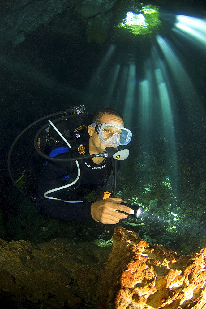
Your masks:
<instances>
[{"instance_id":1,"label":"clear-framed diving mask over the man's eyes and nose","mask_svg":"<svg viewBox=\"0 0 206 309\"><path fill-rule=\"evenodd\" d=\"M110 143L117 147L119 145L127 145L131 141L131 131L122 125L115 125L109 122L97 125L92 122L92 127L97 132L102 143Z\"/></svg>"}]
</instances>

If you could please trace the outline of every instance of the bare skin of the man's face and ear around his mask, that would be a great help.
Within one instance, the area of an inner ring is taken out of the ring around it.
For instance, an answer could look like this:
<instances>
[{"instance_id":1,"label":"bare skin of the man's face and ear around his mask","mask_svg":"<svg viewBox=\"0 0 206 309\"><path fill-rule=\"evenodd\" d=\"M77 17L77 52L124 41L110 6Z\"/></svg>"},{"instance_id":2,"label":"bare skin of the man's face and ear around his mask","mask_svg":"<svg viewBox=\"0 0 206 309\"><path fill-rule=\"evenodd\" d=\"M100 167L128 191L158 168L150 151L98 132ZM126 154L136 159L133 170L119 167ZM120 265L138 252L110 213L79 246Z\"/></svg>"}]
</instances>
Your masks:
<instances>
[{"instance_id":1,"label":"bare skin of the man's face and ear around his mask","mask_svg":"<svg viewBox=\"0 0 206 309\"><path fill-rule=\"evenodd\" d=\"M122 118L119 118L119 117L114 116L114 115L108 115L108 114L103 115L102 118L101 118L101 124L107 123L107 122L114 123L114 125L124 126L124 122L123 122ZM103 152L103 151L105 151L106 147L115 148L115 146L110 144L110 142L104 142L104 143L101 142L97 132L95 131L95 129L91 125L88 127L88 132L89 132L89 135L92 137L92 138L90 138L90 140L91 140L90 150L92 150L93 153Z\"/></svg>"}]
</instances>

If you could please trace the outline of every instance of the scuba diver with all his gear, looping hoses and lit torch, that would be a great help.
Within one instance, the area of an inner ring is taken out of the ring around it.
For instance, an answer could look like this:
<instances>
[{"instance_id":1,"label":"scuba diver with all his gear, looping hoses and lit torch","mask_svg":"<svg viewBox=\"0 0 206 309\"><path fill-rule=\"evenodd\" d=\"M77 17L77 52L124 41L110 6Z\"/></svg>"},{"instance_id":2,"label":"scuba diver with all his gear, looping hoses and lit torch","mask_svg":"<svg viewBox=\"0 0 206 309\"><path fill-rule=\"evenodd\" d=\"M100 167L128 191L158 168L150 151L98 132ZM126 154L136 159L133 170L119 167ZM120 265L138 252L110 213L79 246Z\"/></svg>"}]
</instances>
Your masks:
<instances>
[{"instance_id":1,"label":"scuba diver with all his gear, looping hoses and lit torch","mask_svg":"<svg viewBox=\"0 0 206 309\"><path fill-rule=\"evenodd\" d=\"M15 180L10 161L17 141L34 125L57 115L59 118L49 119L36 133L37 153ZM75 106L44 116L19 133L8 154L9 174L16 188L35 202L36 211L45 217L92 218L103 224L116 224L128 215L138 219L143 214L142 206L115 197L119 161L129 155L128 149L118 146L127 145L131 137L115 109L102 108L92 116L85 112L84 105ZM103 199L88 201L88 194L102 186Z\"/></svg>"}]
</instances>

